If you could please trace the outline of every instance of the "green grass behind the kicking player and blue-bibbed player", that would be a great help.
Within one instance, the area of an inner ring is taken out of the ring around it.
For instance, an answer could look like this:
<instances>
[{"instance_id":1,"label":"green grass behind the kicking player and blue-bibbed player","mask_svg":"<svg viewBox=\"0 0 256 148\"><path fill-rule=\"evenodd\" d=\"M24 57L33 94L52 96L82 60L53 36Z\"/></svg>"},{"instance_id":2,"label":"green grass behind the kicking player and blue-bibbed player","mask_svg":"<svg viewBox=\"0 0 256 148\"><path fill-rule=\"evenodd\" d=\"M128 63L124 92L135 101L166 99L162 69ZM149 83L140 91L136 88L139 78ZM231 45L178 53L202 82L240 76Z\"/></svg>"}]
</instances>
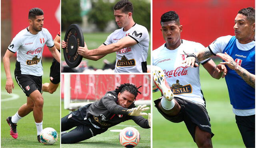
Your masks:
<instances>
[{"instance_id":1,"label":"green grass behind the kicking player and blue-bibbed player","mask_svg":"<svg viewBox=\"0 0 256 148\"><path fill-rule=\"evenodd\" d=\"M235 115L232 112L225 80L212 78L200 65L200 81L206 99L206 109L211 120L212 132L215 134L212 138L213 147L245 147L236 125ZM159 92L153 93L153 100L158 97L160 97ZM153 107L153 148L178 147L196 148L197 146L184 122L170 122Z\"/></svg>"}]
</instances>

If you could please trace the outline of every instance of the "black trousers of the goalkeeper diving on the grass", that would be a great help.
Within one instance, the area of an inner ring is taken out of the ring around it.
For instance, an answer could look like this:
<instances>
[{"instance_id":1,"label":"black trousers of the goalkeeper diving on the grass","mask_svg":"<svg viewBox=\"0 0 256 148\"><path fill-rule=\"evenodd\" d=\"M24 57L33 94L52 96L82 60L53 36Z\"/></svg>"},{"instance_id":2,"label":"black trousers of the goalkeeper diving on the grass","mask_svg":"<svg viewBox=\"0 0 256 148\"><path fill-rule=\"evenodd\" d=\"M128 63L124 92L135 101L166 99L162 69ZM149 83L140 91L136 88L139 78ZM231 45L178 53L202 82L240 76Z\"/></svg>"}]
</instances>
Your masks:
<instances>
[{"instance_id":1,"label":"black trousers of the goalkeeper diving on the grass","mask_svg":"<svg viewBox=\"0 0 256 148\"><path fill-rule=\"evenodd\" d=\"M87 107L89 107L89 105ZM61 118L62 132L76 126L75 129L61 135L62 144L80 142L108 130L108 128L95 128L88 119L84 120L84 117L81 118L83 116L82 114L86 114L86 108L83 108L83 110L71 112L70 114Z\"/></svg>"}]
</instances>

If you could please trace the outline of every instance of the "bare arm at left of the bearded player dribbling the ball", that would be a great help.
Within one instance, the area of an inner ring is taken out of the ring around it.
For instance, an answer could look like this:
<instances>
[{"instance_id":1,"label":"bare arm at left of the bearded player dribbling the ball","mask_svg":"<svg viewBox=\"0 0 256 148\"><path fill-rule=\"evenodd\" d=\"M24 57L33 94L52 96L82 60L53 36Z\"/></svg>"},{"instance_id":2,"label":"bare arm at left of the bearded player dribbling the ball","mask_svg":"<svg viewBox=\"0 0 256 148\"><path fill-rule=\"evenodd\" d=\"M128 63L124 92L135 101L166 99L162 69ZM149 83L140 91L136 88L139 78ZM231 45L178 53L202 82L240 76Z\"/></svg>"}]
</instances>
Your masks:
<instances>
[{"instance_id":1,"label":"bare arm at left of the bearded player dribbling the ball","mask_svg":"<svg viewBox=\"0 0 256 148\"><path fill-rule=\"evenodd\" d=\"M14 89L14 83L12 81L12 75L10 72L10 58L14 55L11 51L8 49L6 50L6 53L4 54L3 57L3 62L4 62L4 71L6 75L6 85L5 89L7 93L12 93L12 89Z\"/></svg>"}]
</instances>

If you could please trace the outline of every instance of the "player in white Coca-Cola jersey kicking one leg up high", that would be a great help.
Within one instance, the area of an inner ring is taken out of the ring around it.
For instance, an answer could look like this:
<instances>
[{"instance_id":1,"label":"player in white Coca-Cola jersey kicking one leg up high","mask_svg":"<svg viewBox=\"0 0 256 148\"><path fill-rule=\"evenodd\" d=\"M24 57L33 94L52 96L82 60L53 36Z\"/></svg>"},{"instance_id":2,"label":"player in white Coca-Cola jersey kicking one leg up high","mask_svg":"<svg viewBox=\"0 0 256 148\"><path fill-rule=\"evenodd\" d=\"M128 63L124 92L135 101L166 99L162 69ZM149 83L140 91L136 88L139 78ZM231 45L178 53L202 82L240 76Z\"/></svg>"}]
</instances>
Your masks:
<instances>
[{"instance_id":1,"label":"player in white Coca-Cola jersey kicking one leg up high","mask_svg":"<svg viewBox=\"0 0 256 148\"><path fill-rule=\"evenodd\" d=\"M169 11L161 16L161 26L166 43L152 52L152 73L154 83L162 92L155 100L155 107L171 122L184 121L198 147L212 147L210 117L205 108L199 79L199 67L191 68L182 61L186 53L193 53L204 47L200 43L181 39L182 25L178 14ZM212 59L200 62L216 79L223 72Z\"/></svg>"}]
</instances>

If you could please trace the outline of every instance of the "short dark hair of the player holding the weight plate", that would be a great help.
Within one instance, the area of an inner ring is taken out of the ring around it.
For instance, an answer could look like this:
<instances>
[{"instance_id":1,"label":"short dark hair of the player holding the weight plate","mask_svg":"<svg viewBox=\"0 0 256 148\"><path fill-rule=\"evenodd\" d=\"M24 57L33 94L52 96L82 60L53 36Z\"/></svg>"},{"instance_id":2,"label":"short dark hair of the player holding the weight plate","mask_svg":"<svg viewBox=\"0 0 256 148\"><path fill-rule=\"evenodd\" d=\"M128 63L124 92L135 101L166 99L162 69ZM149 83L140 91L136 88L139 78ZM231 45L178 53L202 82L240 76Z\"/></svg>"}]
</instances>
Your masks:
<instances>
[{"instance_id":1,"label":"short dark hair of the player holding the weight plate","mask_svg":"<svg viewBox=\"0 0 256 148\"><path fill-rule=\"evenodd\" d=\"M128 12L133 13L133 6L129 0L120 0L114 6L114 10L122 10L122 12L128 14Z\"/></svg>"}]
</instances>

